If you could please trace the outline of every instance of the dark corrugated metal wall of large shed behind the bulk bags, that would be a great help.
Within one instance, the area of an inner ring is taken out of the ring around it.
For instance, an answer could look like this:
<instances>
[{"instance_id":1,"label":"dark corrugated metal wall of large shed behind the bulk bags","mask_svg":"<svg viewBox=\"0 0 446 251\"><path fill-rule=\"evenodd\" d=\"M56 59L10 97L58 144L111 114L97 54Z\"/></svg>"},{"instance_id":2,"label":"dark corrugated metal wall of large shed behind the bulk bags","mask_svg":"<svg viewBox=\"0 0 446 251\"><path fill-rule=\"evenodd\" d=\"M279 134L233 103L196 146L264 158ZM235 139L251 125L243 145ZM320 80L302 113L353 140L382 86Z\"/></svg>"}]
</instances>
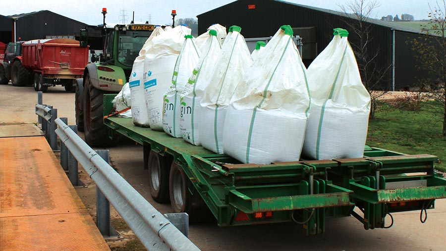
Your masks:
<instances>
[{"instance_id":1,"label":"dark corrugated metal wall of large shed behind the bulk bags","mask_svg":"<svg viewBox=\"0 0 446 251\"><path fill-rule=\"evenodd\" d=\"M255 9L249 9L248 5L255 5ZM327 13L324 11L305 8L298 5L274 1L274 0L238 0L226 4L220 8L208 11L198 16L198 33L202 34L206 29L214 24L220 23L227 28L231 25L242 27L242 35L245 38L268 37L273 36L279 27L283 24L289 24L291 27L311 27L317 29L317 48L318 53L330 43L333 38L333 28L341 27L348 29L345 24L345 17ZM410 34L399 32L401 34ZM392 30L389 27L373 25L371 28L373 39L370 41L369 50L378 51L377 66L386 67L391 65L392 61ZM351 44L357 41L354 34L348 37ZM305 38L303 38L305 40ZM407 50L403 37L398 36L396 41L397 54L395 68L395 89L402 89L417 75L415 69L415 59L411 56L400 57ZM404 49L403 49L404 48ZM409 55L409 54L406 54ZM305 62L306 65L310 63ZM410 73L409 75L407 75ZM382 88L391 88L392 76L391 67L385 77L385 82L381 84Z\"/></svg>"}]
</instances>

